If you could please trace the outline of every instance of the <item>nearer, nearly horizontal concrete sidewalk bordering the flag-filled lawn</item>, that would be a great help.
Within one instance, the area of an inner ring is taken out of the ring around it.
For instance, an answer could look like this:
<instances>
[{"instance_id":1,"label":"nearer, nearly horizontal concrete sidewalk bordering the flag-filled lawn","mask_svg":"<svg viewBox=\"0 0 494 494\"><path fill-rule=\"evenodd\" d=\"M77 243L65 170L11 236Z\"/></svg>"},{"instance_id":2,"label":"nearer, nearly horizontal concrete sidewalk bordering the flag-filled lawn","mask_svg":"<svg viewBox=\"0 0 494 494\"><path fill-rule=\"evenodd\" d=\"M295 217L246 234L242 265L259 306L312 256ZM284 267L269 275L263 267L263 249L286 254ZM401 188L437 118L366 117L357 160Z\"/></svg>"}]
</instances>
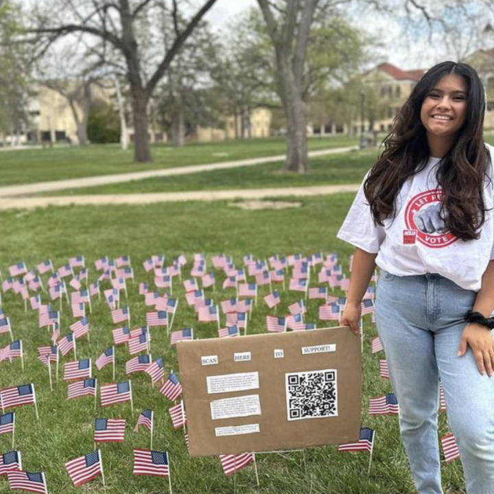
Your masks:
<instances>
[{"instance_id":1,"label":"nearer, nearly horizontal concrete sidewalk bordering the flag-filled lawn","mask_svg":"<svg viewBox=\"0 0 494 494\"><path fill-rule=\"evenodd\" d=\"M177 201L215 201L215 200L259 200L278 197L325 196L340 192L356 192L359 184L349 185L316 185L314 187L285 187L280 189L247 189L220 191L191 191L169 193L139 194L100 194L95 196L54 196L36 198L0 198L0 210L33 209L47 206L75 205L120 205L120 204L153 204L156 202Z\"/></svg>"}]
</instances>

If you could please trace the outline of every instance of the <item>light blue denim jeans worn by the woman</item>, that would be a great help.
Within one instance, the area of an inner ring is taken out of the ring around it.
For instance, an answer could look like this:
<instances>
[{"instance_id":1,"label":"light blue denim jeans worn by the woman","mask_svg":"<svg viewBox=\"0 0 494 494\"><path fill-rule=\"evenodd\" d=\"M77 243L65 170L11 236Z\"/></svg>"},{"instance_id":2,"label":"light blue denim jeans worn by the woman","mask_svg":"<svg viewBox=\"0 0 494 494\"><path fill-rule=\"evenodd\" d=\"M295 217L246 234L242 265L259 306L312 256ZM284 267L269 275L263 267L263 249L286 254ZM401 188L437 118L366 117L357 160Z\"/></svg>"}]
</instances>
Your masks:
<instances>
[{"instance_id":1,"label":"light blue denim jeans worn by the woman","mask_svg":"<svg viewBox=\"0 0 494 494\"><path fill-rule=\"evenodd\" d=\"M381 270L376 325L400 408L400 431L420 494L442 494L438 379L460 449L467 493L494 494L494 377L469 348L458 357L463 316L475 292L439 274L397 277Z\"/></svg>"}]
</instances>

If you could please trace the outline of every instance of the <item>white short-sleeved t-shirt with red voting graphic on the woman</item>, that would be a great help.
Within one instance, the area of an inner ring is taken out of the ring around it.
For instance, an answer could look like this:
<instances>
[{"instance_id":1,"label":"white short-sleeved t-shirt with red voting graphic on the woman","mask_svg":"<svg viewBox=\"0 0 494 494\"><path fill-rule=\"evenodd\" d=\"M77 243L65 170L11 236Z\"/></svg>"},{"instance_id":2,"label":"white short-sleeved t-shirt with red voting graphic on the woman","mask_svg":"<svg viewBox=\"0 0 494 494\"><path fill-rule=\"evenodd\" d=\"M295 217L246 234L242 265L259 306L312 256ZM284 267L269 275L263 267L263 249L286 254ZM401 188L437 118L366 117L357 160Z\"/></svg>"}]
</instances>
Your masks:
<instances>
[{"instance_id":1,"label":"white short-sleeved t-shirt with red voting graphic on the woman","mask_svg":"<svg viewBox=\"0 0 494 494\"><path fill-rule=\"evenodd\" d=\"M494 148L486 145L494 159ZM363 185L338 232L338 238L366 252L377 253L379 268L400 277L438 273L466 290L480 290L482 274L494 259L493 211L478 240L464 242L445 231L439 215L442 191L437 189L436 165L431 157L427 166L403 184L397 197L397 217L375 225L364 195ZM492 167L489 169L492 170ZM492 171L489 172L492 177ZM365 179L364 179L365 180ZM484 204L493 207L494 180L486 180Z\"/></svg>"}]
</instances>

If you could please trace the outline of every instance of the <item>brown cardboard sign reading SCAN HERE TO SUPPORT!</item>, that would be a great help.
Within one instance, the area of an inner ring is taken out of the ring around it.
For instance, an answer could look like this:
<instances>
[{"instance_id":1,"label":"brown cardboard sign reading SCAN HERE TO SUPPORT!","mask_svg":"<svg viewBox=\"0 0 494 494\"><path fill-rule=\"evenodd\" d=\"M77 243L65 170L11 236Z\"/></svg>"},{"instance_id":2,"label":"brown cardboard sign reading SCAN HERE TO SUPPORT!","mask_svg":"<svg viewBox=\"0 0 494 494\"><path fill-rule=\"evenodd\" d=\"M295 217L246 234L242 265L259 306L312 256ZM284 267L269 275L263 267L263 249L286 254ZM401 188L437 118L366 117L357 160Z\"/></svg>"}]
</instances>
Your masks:
<instances>
[{"instance_id":1,"label":"brown cardboard sign reading SCAN HERE TO SUPPORT!","mask_svg":"<svg viewBox=\"0 0 494 494\"><path fill-rule=\"evenodd\" d=\"M360 348L348 327L178 342L191 456L357 441Z\"/></svg>"}]
</instances>

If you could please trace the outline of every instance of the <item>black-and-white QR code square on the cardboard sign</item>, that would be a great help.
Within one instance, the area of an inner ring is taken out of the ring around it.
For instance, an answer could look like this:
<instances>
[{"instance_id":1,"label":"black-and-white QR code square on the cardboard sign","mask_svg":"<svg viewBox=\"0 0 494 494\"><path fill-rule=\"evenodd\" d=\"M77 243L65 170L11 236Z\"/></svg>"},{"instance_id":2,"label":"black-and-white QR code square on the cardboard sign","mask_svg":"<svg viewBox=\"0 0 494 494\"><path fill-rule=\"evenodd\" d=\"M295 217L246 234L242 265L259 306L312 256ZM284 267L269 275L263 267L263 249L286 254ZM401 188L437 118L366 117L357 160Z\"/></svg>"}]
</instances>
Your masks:
<instances>
[{"instance_id":1,"label":"black-and-white QR code square on the cardboard sign","mask_svg":"<svg viewBox=\"0 0 494 494\"><path fill-rule=\"evenodd\" d=\"M338 416L336 369L285 374L289 421Z\"/></svg>"}]
</instances>

